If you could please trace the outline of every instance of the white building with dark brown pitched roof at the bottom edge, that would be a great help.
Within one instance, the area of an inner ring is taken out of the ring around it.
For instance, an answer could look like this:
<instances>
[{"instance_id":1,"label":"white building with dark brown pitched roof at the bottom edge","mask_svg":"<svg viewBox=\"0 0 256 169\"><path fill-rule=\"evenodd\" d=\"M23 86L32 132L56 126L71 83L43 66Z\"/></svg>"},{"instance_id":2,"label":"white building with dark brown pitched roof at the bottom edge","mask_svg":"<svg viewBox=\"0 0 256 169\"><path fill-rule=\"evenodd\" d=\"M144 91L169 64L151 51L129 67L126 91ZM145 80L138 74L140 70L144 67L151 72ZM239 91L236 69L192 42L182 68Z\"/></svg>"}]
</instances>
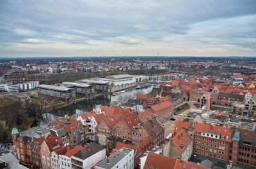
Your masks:
<instances>
[{"instance_id":1,"label":"white building with dark brown pitched roof at the bottom edge","mask_svg":"<svg viewBox=\"0 0 256 169\"><path fill-rule=\"evenodd\" d=\"M72 168L92 168L92 166L95 166L104 158L106 158L106 149L98 143L93 142L83 147L74 156L71 156Z\"/></svg>"}]
</instances>

